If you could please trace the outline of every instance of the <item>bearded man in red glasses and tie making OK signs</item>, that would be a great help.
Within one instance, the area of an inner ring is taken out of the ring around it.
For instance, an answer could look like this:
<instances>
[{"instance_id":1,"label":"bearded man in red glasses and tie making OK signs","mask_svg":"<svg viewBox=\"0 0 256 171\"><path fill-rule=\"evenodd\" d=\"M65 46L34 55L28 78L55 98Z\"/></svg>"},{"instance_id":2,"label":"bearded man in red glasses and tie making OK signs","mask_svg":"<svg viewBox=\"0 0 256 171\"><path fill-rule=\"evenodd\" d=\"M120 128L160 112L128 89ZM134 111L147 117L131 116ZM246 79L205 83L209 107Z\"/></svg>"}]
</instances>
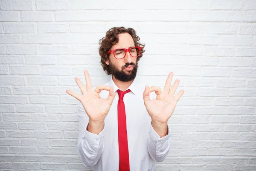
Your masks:
<instances>
[{"instance_id":1,"label":"bearded man in red glasses and tie making OK signs","mask_svg":"<svg viewBox=\"0 0 256 171\"><path fill-rule=\"evenodd\" d=\"M110 81L93 90L84 70L86 87L75 78L82 95L67 90L81 102L79 155L95 171L154 171L154 162L163 161L169 152L171 130L167 121L184 91L175 95L179 80L170 88L172 72L163 92L139 83L137 64L144 52L139 40L133 28L111 28L99 48ZM151 100L153 91L156 99Z\"/></svg>"}]
</instances>

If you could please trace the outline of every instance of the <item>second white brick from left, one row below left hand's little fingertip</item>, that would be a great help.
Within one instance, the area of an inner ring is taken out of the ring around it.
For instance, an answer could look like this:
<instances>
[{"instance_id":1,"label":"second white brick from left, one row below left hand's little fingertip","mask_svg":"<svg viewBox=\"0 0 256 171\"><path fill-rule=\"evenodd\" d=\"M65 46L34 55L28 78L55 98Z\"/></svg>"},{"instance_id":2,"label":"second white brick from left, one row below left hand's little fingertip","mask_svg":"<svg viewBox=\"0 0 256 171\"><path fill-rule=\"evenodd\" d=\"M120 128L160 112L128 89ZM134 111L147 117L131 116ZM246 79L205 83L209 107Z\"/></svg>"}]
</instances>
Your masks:
<instances>
[{"instance_id":1,"label":"second white brick from left, one row below left hand's little fingertip","mask_svg":"<svg viewBox=\"0 0 256 171\"><path fill-rule=\"evenodd\" d=\"M29 102L31 104L59 104L58 96L30 96Z\"/></svg>"}]
</instances>

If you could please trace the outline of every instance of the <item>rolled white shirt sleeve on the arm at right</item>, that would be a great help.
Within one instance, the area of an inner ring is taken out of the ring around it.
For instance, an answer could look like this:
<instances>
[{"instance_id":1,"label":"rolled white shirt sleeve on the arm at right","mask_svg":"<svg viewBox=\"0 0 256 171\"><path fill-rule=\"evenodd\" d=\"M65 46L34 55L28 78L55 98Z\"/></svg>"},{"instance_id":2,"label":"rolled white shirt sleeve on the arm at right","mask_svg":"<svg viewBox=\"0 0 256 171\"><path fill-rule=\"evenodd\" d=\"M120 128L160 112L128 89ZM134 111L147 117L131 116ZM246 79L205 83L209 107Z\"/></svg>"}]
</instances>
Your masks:
<instances>
[{"instance_id":1,"label":"rolled white shirt sleeve on the arm at right","mask_svg":"<svg viewBox=\"0 0 256 171\"><path fill-rule=\"evenodd\" d=\"M171 146L171 129L169 125L167 125L167 135L160 138L152 125L150 127L150 133L148 134L148 152L156 162L162 162L166 158Z\"/></svg>"}]
</instances>

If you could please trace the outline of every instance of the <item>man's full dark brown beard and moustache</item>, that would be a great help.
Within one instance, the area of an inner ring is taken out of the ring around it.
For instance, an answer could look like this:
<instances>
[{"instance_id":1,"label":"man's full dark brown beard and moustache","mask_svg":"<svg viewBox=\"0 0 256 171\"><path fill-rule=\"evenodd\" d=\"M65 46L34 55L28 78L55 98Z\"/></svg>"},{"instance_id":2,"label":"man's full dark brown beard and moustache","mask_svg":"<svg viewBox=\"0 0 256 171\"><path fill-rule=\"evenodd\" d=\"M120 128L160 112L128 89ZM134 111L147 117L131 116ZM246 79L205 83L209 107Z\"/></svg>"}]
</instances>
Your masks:
<instances>
[{"instance_id":1,"label":"man's full dark brown beard and moustache","mask_svg":"<svg viewBox=\"0 0 256 171\"><path fill-rule=\"evenodd\" d=\"M125 71L123 71L123 70L124 70L124 68L126 68L128 66L133 66L133 69L131 71L128 71L129 74L126 74ZM116 66L113 63L111 63L111 61L109 61L110 73L117 80L120 80L122 82L134 80L134 78L136 77L136 74L137 74L137 69L138 69L138 61L136 61L136 64L135 63L126 63L125 66L122 66L121 71L118 68L116 68Z\"/></svg>"}]
</instances>

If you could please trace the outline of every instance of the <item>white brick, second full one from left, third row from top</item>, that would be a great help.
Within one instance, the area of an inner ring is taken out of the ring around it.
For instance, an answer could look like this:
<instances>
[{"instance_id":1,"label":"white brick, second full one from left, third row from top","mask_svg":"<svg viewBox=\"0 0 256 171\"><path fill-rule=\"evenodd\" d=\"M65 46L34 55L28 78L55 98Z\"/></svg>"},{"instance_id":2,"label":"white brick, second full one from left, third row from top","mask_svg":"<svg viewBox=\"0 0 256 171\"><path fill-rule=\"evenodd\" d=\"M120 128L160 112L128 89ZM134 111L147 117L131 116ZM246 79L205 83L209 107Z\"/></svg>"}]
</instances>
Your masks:
<instances>
[{"instance_id":1,"label":"white brick, second full one from left, third row from top","mask_svg":"<svg viewBox=\"0 0 256 171\"><path fill-rule=\"evenodd\" d=\"M37 23L38 33L68 33L70 26L68 23Z\"/></svg>"}]
</instances>

